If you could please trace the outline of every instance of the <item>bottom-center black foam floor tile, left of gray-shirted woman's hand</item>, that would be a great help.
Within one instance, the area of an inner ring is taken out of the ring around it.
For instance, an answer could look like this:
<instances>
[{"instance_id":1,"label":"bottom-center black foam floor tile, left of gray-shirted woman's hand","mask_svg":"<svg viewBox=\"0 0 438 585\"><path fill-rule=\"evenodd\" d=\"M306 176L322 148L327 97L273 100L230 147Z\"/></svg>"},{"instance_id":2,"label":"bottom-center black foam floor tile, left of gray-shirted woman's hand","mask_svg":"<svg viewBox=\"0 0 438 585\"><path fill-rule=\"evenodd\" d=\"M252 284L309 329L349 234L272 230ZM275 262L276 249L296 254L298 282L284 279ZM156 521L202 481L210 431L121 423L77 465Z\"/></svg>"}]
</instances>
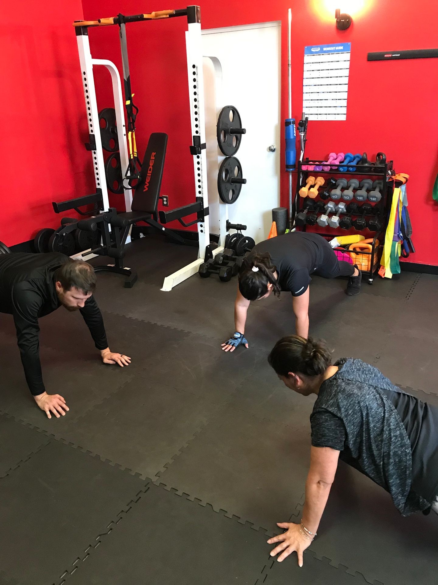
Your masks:
<instances>
[{"instance_id":1,"label":"bottom-center black foam floor tile, left of gray-shirted woman's hand","mask_svg":"<svg viewBox=\"0 0 438 585\"><path fill-rule=\"evenodd\" d=\"M66 583L253 585L268 553L261 532L152 485Z\"/></svg>"}]
</instances>

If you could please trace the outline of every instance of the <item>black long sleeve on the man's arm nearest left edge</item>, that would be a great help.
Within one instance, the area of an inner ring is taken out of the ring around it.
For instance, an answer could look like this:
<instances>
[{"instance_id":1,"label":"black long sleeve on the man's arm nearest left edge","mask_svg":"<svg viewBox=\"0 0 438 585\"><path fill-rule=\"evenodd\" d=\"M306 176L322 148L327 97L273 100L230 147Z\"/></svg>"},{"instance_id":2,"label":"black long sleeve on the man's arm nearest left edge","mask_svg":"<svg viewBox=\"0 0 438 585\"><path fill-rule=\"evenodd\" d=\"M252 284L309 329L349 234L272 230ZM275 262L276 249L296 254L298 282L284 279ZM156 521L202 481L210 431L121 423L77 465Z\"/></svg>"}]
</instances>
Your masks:
<instances>
[{"instance_id":1,"label":"black long sleeve on the man's arm nearest left edge","mask_svg":"<svg viewBox=\"0 0 438 585\"><path fill-rule=\"evenodd\" d=\"M46 390L41 374L38 325L38 313L42 302L40 295L32 290L26 281L16 284L12 289L13 320L18 347L27 386L34 396Z\"/></svg>"}]
</instances>

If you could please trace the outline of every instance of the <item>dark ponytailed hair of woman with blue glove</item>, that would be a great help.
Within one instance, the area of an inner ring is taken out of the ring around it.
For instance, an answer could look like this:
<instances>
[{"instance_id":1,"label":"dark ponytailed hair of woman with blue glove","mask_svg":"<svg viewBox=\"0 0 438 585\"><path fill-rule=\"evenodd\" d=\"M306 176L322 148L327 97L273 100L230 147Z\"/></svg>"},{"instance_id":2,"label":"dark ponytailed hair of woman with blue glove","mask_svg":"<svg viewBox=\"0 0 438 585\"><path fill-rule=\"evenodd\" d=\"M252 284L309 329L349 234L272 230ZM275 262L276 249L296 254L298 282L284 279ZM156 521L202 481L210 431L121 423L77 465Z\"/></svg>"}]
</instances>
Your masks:
<instances>
[{"instance_id":1,"label":"dark ponytailed hair of woman with blue glove","mask_svg":"<svg viewBox=\"0 0 438 585\"><path fill-rule=\"evenodd\" d=\"M253 267L259 270L252 270ZM244 258L239 272L239 291L248 301L256 301L267 292L267 285L273 285L274 295L280 295L280 285L274 277L276 267L273 266L269 253L249 254Z\"/></svg>"}]
</instances>

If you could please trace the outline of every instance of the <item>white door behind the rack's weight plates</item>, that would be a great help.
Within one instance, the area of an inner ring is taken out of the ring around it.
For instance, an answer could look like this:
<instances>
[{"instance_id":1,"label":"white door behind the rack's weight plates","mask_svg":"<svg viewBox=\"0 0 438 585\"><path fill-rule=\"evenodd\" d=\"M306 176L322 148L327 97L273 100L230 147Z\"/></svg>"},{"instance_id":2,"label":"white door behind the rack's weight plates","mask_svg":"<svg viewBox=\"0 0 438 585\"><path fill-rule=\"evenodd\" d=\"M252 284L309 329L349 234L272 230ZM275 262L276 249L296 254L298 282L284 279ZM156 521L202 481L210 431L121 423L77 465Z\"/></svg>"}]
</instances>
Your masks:
<instances>
[{"instance_id":1,"label":"white door behind the rack's weight plates","mask_svg":"<svg viewBox=\"0 0 438 585\"><path fill-rule=\"evenodd\" d=\"M225 158L217 146L217 114L223 106L233 105L246 128L235 154L246 185L237 201L228 205L228 215L231 223L246 224L245 235L256 243L267 238L271 210L280 204L280 32L278 22L202 32L204 56L218 60L222 70L220 88L213 62L204 59L210 231L219 231L217 174L218 163ZM274 152L269 150L272 144Z\"/></svg>"}]
</instances>

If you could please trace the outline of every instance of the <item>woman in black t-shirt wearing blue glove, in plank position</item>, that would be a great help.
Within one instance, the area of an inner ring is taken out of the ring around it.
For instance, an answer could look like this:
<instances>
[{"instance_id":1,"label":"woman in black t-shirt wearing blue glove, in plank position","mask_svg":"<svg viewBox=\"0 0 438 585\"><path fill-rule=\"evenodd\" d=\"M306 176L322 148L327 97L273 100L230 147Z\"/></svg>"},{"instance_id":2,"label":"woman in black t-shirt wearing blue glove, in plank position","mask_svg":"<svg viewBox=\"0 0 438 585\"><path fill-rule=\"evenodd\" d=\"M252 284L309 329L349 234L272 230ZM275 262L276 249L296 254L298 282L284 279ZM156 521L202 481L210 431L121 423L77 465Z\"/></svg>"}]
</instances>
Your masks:
<instances>
[{"instance_id":1,"label":"woman in black t-shirt wearing blue glove, in plank position","mask_svg":"<svg viewBox=\"0 0 438 585\"><path fill-rule=\"evenodd\" d=\"M349 276L347 295L360 292L360 270L349 262L339 261L327 240L316 233L290 232L258 243L242 264L234 304L236 331L222 344L222 349L232 352L241 344L248 347L244 333L249 303L269 297L271 292L274 295L291 292L296 333L307 338L311 274L323 278Z\"/></svg>"}]
</instances>

